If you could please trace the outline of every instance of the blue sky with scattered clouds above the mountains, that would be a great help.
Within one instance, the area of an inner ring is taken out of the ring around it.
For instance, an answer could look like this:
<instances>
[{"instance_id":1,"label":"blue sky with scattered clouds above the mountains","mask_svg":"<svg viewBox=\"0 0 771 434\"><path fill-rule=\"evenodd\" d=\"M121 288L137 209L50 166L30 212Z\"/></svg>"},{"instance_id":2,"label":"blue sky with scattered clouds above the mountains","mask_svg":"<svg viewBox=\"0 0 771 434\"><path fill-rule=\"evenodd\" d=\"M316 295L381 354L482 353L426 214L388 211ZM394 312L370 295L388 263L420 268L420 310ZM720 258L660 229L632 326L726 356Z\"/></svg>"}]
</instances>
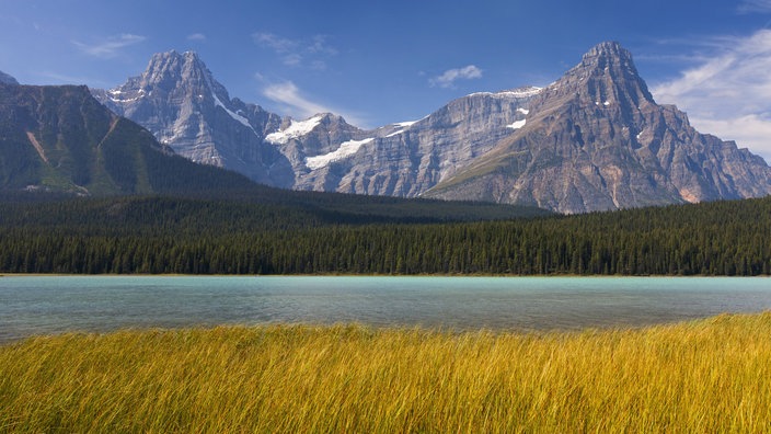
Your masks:
<instances>
[{"instance_id":1,"label":"blue sky with scattered clouds above the mountains","mask_svg":"<svg viewBox=\"0 0 771 434\"><path fill-rule=\"evenodd\" d=\"M546 85L618 41L661 104L771 161L771 0L0 0L0 70L114 88L197 52L230 96L359 127Z\"/></svg>"}]
</instances>

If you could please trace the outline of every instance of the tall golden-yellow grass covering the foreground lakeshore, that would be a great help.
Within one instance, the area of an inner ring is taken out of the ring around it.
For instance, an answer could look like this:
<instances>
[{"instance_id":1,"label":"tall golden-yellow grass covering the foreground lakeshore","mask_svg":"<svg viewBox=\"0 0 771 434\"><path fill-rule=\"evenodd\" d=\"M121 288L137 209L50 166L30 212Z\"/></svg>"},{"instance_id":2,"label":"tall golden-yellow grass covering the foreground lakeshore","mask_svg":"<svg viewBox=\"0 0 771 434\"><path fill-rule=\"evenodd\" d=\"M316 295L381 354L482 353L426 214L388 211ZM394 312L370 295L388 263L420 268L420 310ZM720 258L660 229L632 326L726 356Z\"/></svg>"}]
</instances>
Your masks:
<instances>
[{"instance_id":1,"label":"tall golden-yellow grass covering the foreground lakeshore","mask_svg":"<svg viewBox=\"0 0 771 434\"><path fill-rule=\"evenodd\" d=\"M771 312L638 330L220 327L0 347L0 432L770 432Z\"/></svg>"}]
</instances>

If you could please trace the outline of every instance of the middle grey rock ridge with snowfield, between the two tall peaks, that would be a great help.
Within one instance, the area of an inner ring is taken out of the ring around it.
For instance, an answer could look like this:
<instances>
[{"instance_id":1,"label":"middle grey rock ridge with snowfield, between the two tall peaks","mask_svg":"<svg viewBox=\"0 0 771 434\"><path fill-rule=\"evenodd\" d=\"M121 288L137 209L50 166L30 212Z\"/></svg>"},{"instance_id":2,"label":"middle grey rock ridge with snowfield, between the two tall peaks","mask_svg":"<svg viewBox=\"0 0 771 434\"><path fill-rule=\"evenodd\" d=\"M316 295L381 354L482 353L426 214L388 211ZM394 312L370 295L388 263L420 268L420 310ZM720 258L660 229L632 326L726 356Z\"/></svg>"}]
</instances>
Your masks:
<instances>
[{"instance_id":1,"label":"middle grey rock ridge with snowfield, between the two tall peaks","mask_svg":"<svg viewBox=\"0 0 771 434\"><path fill-rule=\"evenodd\" d=\"M357 132L323 153L307 152L295 187L417 197L510 135L537 91L474 93L416 122ZM292 141L303 147L308 137Z\"/></svg>"}]
</instances>

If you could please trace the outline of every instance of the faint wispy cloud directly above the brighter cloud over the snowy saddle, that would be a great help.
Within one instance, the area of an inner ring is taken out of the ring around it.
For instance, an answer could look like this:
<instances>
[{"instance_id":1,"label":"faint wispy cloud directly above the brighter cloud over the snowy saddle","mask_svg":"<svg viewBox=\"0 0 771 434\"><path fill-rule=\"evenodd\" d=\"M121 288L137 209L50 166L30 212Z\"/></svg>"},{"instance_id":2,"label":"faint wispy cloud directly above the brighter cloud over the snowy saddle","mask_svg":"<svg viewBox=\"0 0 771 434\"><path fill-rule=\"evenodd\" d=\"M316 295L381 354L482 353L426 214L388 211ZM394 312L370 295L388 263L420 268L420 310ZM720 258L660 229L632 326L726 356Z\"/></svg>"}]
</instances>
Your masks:
<instances>
[{"instance_id":1,"label":"faint wispy cloud directly above the brighter cloud over the snowy saddle","mask_svg":"<svg viewBox=\"0 0 771 434\"><path fill-rule=\"evenodd\" d=\"M325 59L337 55L337 49L329 44L325 35L315 35L308 39L290 39L269 32L252 34L257 46L275 52L281 62L290 67L326 69Z\"/></svg>"}]
</instances>

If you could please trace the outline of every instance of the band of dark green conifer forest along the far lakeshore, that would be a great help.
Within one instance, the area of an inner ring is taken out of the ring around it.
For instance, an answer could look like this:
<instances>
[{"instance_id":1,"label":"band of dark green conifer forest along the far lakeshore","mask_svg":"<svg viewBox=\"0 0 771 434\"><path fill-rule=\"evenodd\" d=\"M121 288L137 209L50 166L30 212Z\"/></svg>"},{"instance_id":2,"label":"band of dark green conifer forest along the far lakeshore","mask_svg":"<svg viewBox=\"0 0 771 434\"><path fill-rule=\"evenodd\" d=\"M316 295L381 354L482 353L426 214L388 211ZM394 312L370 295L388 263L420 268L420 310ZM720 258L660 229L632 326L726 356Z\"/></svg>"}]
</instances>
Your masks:
<instances>
[{"instance_id":1,"label":"band of dark green conifer forest along the far lakeshore","mask_svg":"<svg viewBox=\"0 0 771 434\"><path fill-rule=\"evenodd\" d=\"M771 274L771 198L422 225L284 225L280 213L255 219L252 208L225 216L218 206L189 218L169 203L143 216L115 209L114 225L78 225L33 218L39 206L16 205L0 221L0 272Z\"/></svg>"}]
</instances>

